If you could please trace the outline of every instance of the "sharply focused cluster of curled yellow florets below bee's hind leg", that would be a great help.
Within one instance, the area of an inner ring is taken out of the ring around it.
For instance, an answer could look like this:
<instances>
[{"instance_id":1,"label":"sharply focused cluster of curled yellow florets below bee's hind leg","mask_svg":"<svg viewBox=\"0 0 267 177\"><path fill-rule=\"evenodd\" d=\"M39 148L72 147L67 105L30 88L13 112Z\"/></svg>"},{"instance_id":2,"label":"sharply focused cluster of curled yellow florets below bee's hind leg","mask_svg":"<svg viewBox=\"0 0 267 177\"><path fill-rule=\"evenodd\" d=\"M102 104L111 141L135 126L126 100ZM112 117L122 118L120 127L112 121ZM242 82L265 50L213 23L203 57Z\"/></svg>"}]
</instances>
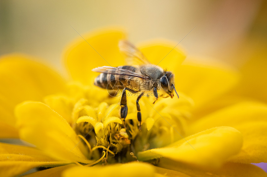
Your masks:
<instances>
[{"instance_id":1,"label":"sharply focused cluster of curled yellow florets below bee's hind leg","mask_svg":"<svg viewBox=\"0 0 267 177\"><path fill-rule=\"evenodd\" d=\"M93 108L85 99L80 99L75 104L73 114L77 116L77 121L73 128L85 139L85 143L88 141L88 148L91 149L89 158L101 156L104 149L106 154L110 153L105 159L108 163L136 160L134 142L142 133L137 119L126 120L124 128L118 117L119 109L119 104L109 105L106 102Z\"/></svg>"}]
</instances>

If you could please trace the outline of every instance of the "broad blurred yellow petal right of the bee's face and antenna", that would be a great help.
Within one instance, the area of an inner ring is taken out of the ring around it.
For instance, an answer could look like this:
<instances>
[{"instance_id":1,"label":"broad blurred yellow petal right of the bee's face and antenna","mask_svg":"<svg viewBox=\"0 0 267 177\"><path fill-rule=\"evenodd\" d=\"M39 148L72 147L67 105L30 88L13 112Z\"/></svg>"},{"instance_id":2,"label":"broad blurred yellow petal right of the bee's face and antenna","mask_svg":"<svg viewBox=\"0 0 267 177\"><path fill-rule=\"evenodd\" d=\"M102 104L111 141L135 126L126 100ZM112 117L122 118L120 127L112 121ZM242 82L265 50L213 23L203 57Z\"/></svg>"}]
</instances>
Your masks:
<instances>
[{"instance_id":1,"label":"broad blurred yellow petal right of the bee's face and antenna","mask_svg":"<svg viewBox=\"0 0 267 177\"><path fill-rule=\"evenodd\" d=\"M194 109L229 91L238 82L238 74L228 68L187 62L175 70L176 90L194 100Z\"/></svg>"}]
</instances>

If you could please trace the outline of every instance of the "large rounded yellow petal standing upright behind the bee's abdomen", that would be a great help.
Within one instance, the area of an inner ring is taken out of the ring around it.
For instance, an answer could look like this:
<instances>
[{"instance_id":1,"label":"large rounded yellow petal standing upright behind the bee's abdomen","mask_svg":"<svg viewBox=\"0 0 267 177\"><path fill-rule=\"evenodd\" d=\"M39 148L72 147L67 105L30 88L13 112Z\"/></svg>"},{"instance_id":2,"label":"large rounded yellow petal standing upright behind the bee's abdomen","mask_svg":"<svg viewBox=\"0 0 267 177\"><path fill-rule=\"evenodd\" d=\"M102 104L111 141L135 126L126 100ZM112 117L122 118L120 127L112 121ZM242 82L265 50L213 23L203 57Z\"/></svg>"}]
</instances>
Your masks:
<instances>
[{"instance_id":1,"label":"large rounded yellow petal standing upright behind the bee's abdomen","mask_svg":"<svg viewBox=\"0 0 267 177\"><path fill-rule=\"evenodd\" d=\"M91 71L93 68L124 64L124 56L118 47L119 41L125 38L123 32L113 28L81 35L86 41L77 34L78 39L64 55L68 72L74 80L85 85L93 84L93 79L99 74Z\"/></svg>"}]
</instances>

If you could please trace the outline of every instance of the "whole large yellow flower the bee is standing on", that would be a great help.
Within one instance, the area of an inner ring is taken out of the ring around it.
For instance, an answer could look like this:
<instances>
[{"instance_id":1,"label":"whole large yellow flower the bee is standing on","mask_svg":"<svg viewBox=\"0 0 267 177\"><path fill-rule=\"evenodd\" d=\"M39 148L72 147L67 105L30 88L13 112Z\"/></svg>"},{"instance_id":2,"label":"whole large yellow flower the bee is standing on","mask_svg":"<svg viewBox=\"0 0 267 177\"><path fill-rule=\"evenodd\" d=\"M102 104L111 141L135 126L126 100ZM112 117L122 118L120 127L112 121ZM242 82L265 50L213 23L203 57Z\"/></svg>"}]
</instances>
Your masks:
<instances>
[{"instance_id":1,"label":"whole large yellow flower the bee is standing on","mask_svg":"<svg viewBox=\"0 0 267 177\"><path fill-rule=\"evenodd\" d=\"M175 74L180 98L142 97L139 131L136 97L127 97L126 129L120 97L93 86L91 69L124 65L118 42L124 33L103 30L77 40L65 52L71 76L22 55L0 59L0 136L33 147L0 143L0 175L63 176L266 176L250 163L266 162L267 105L225 93L237 72L186 61L170 41L140 50ZM87 167L90 166L90 167ZM93 166L93 167L92 167Z\"/></svg>"}]
</instances>

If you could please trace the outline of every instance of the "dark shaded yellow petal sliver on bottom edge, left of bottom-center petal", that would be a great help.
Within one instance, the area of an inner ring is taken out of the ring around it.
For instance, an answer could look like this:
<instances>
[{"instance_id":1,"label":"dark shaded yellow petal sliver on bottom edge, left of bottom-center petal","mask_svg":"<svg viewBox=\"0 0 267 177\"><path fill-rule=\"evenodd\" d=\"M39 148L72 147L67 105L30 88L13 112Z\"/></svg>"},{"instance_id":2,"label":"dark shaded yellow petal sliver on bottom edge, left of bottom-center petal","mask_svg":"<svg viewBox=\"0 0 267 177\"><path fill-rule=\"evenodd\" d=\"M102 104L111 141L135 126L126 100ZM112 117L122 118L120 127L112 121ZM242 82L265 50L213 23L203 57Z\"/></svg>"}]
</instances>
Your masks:
<instances>
[{"instance_id":1,"label":"dark shaded yellow petal sliver on bottom edge, left of bottom-center petal","mask_svg":"<svg viewBox=\"0 0 267 177\"><path fill-rule=\"evenodd\" d=\"M50 177L50 176L61 176L63 171L68 168L76 166L75 164L69 164L64 166L57 166L54 168L49 168L46 170L37 171L29 175L24 175L24 177Z\"/></svg>"}]
</instances>

